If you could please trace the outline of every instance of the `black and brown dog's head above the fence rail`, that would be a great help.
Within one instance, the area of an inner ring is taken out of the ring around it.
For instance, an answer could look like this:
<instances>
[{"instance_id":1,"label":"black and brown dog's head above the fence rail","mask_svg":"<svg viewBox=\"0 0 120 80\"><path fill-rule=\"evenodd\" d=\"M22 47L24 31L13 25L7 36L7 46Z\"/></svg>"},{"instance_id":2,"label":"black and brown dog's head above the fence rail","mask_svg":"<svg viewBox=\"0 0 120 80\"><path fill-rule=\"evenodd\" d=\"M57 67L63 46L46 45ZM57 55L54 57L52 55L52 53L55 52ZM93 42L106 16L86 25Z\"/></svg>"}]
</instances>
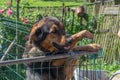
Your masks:
<instances>
[{"instance_id":1,"label":"black and brown dog's head above the fence rail","mask_svg":"<svg viewBox=\"0 0 120 80\"><path fill-rule=\"evenodd\" d=\"M67 43L65 27L59 19L46 17L33 25L29 42L45 51L53 52L57 50L57 44Z\"/></svg>"}]
</instances>

